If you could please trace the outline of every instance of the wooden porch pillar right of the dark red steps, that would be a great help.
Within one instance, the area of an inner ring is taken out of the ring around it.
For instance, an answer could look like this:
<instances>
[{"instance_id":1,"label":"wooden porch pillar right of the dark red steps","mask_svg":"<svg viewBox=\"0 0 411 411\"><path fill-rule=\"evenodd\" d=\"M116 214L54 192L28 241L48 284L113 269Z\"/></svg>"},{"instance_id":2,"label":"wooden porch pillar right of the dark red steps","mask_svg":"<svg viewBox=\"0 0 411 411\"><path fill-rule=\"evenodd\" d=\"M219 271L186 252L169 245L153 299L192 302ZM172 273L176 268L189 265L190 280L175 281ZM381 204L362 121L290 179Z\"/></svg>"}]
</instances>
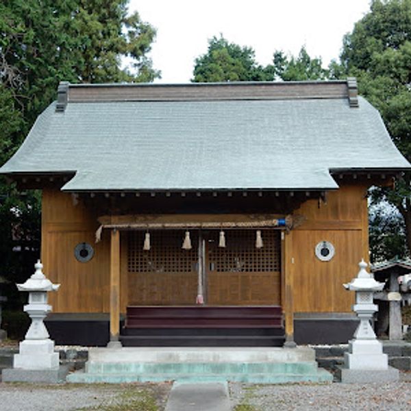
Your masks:
<instances>
[{"instance_id":1,"label":"wooden porch pillar right of the dark red steps","mask_svg":"<svg viewBox=\"0 0 411 411\"><path fill-rule=\"evenodd\" d=\"M286 343L284 347L296 347L294 341L294 301L293 301L293 273L294 258L292 257L292 232L284 235L284 314L286 328Z\"/></svg>"}]
</instances>

